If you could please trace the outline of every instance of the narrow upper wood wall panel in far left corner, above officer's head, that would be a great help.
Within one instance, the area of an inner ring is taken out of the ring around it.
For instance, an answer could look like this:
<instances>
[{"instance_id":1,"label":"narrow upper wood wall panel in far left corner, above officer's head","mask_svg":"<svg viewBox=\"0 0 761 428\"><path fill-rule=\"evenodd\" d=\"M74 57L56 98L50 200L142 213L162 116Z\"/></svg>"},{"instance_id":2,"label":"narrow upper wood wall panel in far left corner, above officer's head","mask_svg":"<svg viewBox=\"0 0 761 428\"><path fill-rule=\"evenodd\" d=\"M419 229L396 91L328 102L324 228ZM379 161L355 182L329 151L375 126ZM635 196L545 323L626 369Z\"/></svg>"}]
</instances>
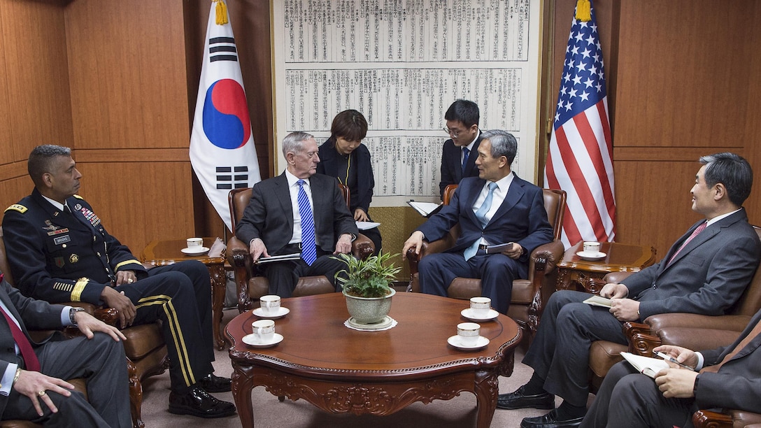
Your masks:
<instances>
[{"instance_id":1,"label":"narrow upper wood wall panel in far left corner, above officer's head","mask_svg":"<svg viewBox=\"0 0 761 428\"><path fill-rule=\"evenodd\" d=\"M35 145L72 143L61 2L0 2L0 163Z\"/></svg>"}]
</instances>

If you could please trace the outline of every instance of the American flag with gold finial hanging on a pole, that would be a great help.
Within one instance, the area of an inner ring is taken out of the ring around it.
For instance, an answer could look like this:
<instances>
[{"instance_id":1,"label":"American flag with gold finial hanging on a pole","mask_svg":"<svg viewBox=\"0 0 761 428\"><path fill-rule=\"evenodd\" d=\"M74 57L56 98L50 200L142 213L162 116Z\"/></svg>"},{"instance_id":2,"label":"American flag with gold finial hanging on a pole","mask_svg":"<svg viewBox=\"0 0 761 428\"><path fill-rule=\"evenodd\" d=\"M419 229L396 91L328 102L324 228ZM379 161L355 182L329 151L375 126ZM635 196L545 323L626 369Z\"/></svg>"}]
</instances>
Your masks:
<instances>
[{"instance_id":1,"label":"American flag with gold finial hanging on a pole","mask_svg":"<svg viewBox=\"0 0 761 428\"><path fill-rule=\"evenodd\" d=\"M591 6L590 20L576 15L568 36L544 170L545 187L568 193L565 248L578 241L613 241L616 235L612 150L603 53Z\"/></svg>"}]
</instances>

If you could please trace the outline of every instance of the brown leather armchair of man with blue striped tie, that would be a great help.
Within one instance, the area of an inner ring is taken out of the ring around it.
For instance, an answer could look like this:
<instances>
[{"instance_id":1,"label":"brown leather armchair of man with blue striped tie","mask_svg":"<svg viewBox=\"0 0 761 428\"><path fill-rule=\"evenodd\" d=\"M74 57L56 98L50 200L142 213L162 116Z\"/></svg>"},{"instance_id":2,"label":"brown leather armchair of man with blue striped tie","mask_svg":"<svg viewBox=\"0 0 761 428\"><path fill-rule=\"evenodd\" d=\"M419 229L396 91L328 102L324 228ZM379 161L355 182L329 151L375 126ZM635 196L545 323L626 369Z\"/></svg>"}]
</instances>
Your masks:
<instances>
[{"instance_id":1,"label":"brown leather armchair of man with blue striped tie","mask_svg":"<svg viewBox=\"0 0 761 428\"><path fill-rule=\"evenodd\" d=\"M343 184L339 184L349 206L349 189ZM258 300L261 296L269 294L269 281L265 276L258 275L256 267L251 260L248 252L248 243L242 242L235 237L235 226L243 217L244 210L251 200L251 188L233 189L228 195L228 204L230 205L230 218L233 222L233 236L228 241L228 261L233 267L235 275L235 286L238 300L238 311L243 312L253 308L253 301ZM359 234L352 242L352 254L355 257L365 259L371 256L375 251L373 241L365 235ZM302 276L296 283L293 290L293 297L302 295L323 294L335 292L336 287L333 282L325 276Z\"/></svg>"}]
</instances>

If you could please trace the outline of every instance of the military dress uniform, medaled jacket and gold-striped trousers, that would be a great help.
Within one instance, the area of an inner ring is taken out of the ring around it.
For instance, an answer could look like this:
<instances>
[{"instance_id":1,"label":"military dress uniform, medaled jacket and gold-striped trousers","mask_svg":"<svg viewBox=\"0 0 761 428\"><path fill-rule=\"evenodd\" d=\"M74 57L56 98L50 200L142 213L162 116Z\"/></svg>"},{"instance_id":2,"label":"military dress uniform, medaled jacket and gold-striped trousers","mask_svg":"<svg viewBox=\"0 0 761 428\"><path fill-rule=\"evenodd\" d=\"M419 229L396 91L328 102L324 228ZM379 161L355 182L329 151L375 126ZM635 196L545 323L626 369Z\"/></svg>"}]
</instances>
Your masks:
<instances>
[{"instance_id":1,"label":"military dress uniform, medaled jacket and gold-striped trousers","mask_svg":"<svg viewBox=\"0 0 761 428\"><path fill-rule=\"evenodd\" d=\"M61 210L34 189L5 209L2 226L11 272L24 295L103 305L103 288L114 287L135 305L134 325L163 321L174 391L186 391L213 371L212 293L204 264L189 260L146 270L78 195ZM116 286L119 270L134 271L138 280Z\"/></svg>"}]
</instances>

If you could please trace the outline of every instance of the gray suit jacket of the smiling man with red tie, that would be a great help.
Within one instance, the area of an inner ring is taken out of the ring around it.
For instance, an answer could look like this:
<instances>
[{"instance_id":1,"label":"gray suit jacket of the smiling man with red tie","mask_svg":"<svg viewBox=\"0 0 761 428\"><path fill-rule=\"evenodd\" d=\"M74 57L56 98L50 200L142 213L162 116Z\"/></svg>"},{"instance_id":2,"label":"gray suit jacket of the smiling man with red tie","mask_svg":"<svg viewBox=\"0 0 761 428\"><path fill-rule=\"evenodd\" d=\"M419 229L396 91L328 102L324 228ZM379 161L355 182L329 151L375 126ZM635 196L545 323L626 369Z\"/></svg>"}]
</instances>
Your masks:
<instances>
[{"instance_id":1,"label":"gray suit jacket of the smiling man with red tie","mask_svg":"<svg viewBox=\"0 0 761 428\"><path fill-rule=\"evenodd\" d=\"M640 302L640 319L667 312L722 315L750 283L761 258L761 243L745 209L715 222L668 260L693 230L679 238L657 264L624 279L629 297Z\"/></svg>"}]
</instances>

